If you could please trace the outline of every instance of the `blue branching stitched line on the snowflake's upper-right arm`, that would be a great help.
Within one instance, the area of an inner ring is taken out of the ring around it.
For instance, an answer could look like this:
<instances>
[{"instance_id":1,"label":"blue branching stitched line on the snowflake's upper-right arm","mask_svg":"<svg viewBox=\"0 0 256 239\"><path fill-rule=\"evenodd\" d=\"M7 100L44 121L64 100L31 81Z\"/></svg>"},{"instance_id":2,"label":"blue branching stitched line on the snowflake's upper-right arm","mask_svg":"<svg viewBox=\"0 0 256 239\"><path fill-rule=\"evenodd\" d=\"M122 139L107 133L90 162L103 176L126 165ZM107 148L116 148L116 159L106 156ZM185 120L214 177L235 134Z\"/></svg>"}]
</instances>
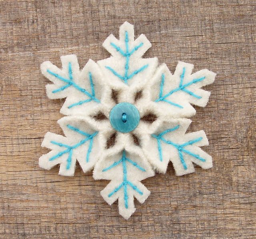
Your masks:
<instances>
[{"instance_id":1,"label":"blue branching stitched line on the snowflake's upper-right arm","mask_svg":"<svg viewBox=\"0 0 256 239\"><path fill-rule=\"evenodd\" d=\"M159 98L155 100L155 102L160 102L160 101L163 101L163 102L167 102L168 104L171 104L173 106L176 106L178 108L183 108L180 104L176 104L174 102L171 102L169 100L166 100L166 98L168 98L170 95L172 95L173 93L175 92L178 92L180 90L182 90L183 92L186 92L187 94L189 94L190 96L193 96L197 99L201 99L202 97L201 96L198 96L196 94L194 94L193 92L189 91L186 89L186 87L188 86L191 86L192 84L195 84L197 82L200 82L202 80L205 79L205 76L204 77L201 77L201 78L197 78L197 79L194 79L190 82L188 82L187 84L183 84L183 81L184 81L184 76L185 76L185 72L186 72L186 68L184 67L183 70L182 70L182 74L180 75L180 84L179 84L179 87L175 88L174 90L171 90L168 94L164 95L163 96L163 89L164 89L164 79L165 79L165 75L162 74L161 75L161 83L160 83L160 91L159 91Z\"/></svg>"}]
</instances>

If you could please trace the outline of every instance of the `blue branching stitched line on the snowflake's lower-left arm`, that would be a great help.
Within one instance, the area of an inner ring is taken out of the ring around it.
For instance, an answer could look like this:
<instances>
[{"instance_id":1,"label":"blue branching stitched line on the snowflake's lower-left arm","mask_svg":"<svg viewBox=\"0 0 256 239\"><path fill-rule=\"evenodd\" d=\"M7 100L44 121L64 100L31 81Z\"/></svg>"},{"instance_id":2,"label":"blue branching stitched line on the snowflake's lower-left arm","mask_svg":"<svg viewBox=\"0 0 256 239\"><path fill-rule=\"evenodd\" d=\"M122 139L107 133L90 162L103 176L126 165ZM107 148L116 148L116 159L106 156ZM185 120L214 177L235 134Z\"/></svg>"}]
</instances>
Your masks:
<instances>
[{"instance_id":1,"label":"blue branching stitched line on the snowflake's lower-left arm","mask_svg":"<svg viewBox=\"0 0 256 239\"><path fill-rule=\"evenodd\" d=\"M52 156L49 159L49 161L57 159L57 158L61 157L62 155L64 155L65 153L68 153L68 159L67 159L67 165L66 165L66 169L68 170L68 169L70 169L70 166L71 166L73 150L78 148L79 146L83 145L88 140L90 140L90 143L89 143L89 147L88 147L88 150L87 150L87 153L86 153L86 163L89 162L89 157L90 157L90 153L92 151L92 146L93 146L93 138L98 134L98 131L95 131L94 133L89 134L89 133L86 133L86 132L84 132L84 131L82 131L82 130L72 126L72 125L67 125L67 127L69 129L73 130L73 131L76 131L76 132L80 133L81 135L86 136L79 143L76 143L73 146L66 145L64 143L59 143L59 142L56 142L56 141L51 141L52 144L58 145L60 147L65 147L66 149L61 151L61 152L59 152L59 153L57 153L56 155Z\"/></svg>"}]
</instances>

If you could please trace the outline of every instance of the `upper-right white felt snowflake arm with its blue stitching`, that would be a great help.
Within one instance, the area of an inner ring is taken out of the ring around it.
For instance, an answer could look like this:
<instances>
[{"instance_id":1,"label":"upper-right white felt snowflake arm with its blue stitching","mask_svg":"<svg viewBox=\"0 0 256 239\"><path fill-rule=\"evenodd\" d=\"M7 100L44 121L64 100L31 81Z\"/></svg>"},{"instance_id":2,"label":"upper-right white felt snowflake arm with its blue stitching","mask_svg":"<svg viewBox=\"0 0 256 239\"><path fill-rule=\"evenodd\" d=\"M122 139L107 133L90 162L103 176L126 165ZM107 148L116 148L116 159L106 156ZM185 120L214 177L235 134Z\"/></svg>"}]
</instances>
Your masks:
<instances>
[{"instance_id":1,"label":"upper-right white felt snowflake arm with its blue stitching","mask_svg":"<svg viewBox=\"0 0 256 239\"><path fill-rule=\"evenodd\" d=\"M192 69L192 64L179 62L172 75L163 64L158 68L148 88L151 100L173 117L192 116L196 111L190 104L204 107L208 102L210 92L200 88L211 84L216 74L206 69L191 74ZM166 110L167 108L169 110Z\"/></svg>"}]
</instances>

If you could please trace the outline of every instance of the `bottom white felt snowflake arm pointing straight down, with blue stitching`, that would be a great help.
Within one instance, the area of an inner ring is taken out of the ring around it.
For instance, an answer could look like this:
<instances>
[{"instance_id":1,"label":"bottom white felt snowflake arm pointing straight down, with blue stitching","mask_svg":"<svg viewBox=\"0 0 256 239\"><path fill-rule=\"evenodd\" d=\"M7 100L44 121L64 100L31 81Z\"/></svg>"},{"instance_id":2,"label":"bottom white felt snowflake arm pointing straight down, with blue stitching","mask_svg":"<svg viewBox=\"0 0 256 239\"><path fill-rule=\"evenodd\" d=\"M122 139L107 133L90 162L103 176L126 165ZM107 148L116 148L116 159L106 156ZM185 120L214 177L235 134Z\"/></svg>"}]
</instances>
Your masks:
<instances>
[{"instance_id":1,"label":"bottom white felt snowflake arm pointing straight down, with blue stitching","mask_svg":"<svg viewBox=\"0 0 256 239\"><path fill-rule=\"evenodd\" d=\"M134 197L143 203L150 195L150 191L140 181L153 176L154 172L142 155L134 155L124 149L116 156L120 159L107 156L98 161L94 178L111 180L101 195L110 205L118 200L120 215L128 219L135 211Z\"/></svg>"}]
</instances>

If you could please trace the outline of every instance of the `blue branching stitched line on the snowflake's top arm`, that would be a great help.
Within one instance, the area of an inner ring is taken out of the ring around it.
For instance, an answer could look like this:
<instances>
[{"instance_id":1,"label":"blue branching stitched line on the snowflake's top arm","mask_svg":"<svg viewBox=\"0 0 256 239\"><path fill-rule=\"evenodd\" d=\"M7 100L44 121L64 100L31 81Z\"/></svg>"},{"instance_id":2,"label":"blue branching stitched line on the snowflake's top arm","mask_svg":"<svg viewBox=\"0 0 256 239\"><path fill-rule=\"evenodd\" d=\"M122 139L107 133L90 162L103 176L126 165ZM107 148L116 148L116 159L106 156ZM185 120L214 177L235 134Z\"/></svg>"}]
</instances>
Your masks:
<instances>
[{"instance_id":1,"label":"blue branching stitched line on the snowflake's top arm","mask_svg":"<svg viewBox=\"0 0 256 239\"><path fill-rule=\"evenodd\" d=\"M137 46L134 46L132 50L129 51L129 37L128 37L128 32L125 32L125 52L122 50L119 46L116 46L113 42L110 42L110 45L113 46L117 52L119 52L122 56L126 58L126 62L124 65L124 76L121 76L119 73L117 73L113 68L110 66L105 66L108 70L110 70L115 76L117 76L119 79L123 80L125 84L127 84L127 81L131 78L133 78L136 74L142 72L148 67L148 64L142 66L138 70L135 70L131 74L129 74L129 62L130 62L130 56L134 54L135 51L137 51L142 45L143 42L138 44Z\"/></svg>"}]
</instances>

